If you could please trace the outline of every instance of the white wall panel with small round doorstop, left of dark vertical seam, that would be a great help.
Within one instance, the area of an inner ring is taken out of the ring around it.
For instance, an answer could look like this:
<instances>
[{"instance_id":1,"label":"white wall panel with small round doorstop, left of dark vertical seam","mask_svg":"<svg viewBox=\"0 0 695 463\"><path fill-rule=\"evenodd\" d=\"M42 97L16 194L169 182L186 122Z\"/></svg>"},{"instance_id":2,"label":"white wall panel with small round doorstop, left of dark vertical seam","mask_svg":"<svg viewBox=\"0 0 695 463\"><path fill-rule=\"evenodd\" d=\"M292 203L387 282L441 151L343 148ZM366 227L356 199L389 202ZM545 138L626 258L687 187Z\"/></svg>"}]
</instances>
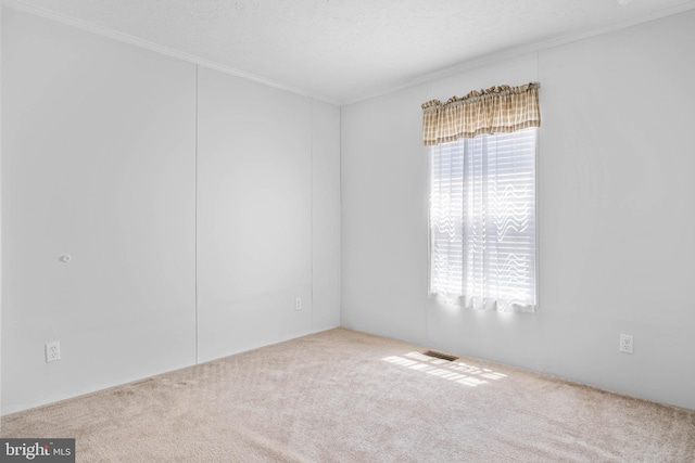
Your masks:
<instances>
[{"instance_id":1,"label":"white wall panel with small round doorstop, left of dark vertical seam","mask_svg":"<svg viewBox=\"0 0 695 463\"><path fill-rule=\"evenodd\" d=\"M10 412L194 361L195 66L3 13Z\"/></svg>"}]
</instances>

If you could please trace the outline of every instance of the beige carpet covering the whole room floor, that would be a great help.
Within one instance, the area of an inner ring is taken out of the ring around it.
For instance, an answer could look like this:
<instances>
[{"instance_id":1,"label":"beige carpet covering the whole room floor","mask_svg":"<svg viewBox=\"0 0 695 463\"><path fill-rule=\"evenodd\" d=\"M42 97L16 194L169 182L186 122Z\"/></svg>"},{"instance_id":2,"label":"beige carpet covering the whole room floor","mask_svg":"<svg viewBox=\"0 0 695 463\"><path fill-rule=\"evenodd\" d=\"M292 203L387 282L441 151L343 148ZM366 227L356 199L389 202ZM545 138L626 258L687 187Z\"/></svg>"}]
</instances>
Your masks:
<instances>
[{"instance_id":1,"label":"beige carpet covering the whole room floor","mask_svg":"<svg viewBox=\"0 0 695 463\"><path fill-rule=\"evenodd\" d=\"M695 462L695 411L349 330L2 419L78 462Z\"/></svg>"}]
</instances>

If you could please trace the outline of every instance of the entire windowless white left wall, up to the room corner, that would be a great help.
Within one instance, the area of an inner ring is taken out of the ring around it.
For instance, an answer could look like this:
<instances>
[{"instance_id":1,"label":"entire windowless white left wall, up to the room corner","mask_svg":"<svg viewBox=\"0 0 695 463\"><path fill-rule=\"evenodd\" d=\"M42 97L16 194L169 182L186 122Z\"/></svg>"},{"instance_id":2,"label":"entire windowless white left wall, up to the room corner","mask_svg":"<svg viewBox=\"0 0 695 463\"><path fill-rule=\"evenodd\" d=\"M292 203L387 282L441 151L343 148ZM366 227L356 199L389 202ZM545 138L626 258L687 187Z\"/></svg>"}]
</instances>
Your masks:
<instances>
[{"instance_id":1,"label":"entire windowless white left wall, up to the room corner","mask_svg":"<svg viewBox=\"0 0 695 463\"><path fill-rule=\"evenodd\" d=\"M3 413L338 325L338 107L2 16Z\"/></svg>"}]
</instances>

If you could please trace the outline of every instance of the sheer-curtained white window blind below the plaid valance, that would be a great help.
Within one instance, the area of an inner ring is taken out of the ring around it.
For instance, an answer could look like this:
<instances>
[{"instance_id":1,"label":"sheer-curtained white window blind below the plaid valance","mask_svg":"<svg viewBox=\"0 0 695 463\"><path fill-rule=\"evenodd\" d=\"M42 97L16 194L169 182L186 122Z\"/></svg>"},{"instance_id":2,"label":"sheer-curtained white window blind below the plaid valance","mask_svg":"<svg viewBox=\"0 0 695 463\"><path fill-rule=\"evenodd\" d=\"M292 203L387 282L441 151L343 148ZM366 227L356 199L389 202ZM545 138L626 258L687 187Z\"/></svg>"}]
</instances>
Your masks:
<instances>
[{"instance_id":1,"label":"sheer-curtained white window blind below the plaid valance","mask_svg":"<svg viewBox=\"0 0 695 463\"><path fill-rule=\"evenodd\" d=\"M536 130L430 149L432 296L476 309L534 311Z\"/></svg>"}]
</instances>

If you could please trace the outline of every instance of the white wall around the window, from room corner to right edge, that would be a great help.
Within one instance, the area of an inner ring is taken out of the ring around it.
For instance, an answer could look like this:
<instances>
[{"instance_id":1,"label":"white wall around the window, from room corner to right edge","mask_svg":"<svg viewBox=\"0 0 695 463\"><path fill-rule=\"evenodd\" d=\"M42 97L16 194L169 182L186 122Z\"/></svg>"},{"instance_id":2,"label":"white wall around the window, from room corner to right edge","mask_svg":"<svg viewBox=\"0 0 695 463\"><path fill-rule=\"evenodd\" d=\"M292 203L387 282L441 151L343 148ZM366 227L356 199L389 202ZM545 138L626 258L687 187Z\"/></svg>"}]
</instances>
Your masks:
<instances>
[{"instance_id":1,"label":"white wall around the window, from room corner to right edge","mask_svg":"<svg viewBox=\"0 0 695 463\"><path fill-rule=\"evenodd\" d=\"M691 11L343 107L343 325L695 409L693 24ZM531 80L540 308L439 306L420 104Z\"/></svg>"}]
</instances>

